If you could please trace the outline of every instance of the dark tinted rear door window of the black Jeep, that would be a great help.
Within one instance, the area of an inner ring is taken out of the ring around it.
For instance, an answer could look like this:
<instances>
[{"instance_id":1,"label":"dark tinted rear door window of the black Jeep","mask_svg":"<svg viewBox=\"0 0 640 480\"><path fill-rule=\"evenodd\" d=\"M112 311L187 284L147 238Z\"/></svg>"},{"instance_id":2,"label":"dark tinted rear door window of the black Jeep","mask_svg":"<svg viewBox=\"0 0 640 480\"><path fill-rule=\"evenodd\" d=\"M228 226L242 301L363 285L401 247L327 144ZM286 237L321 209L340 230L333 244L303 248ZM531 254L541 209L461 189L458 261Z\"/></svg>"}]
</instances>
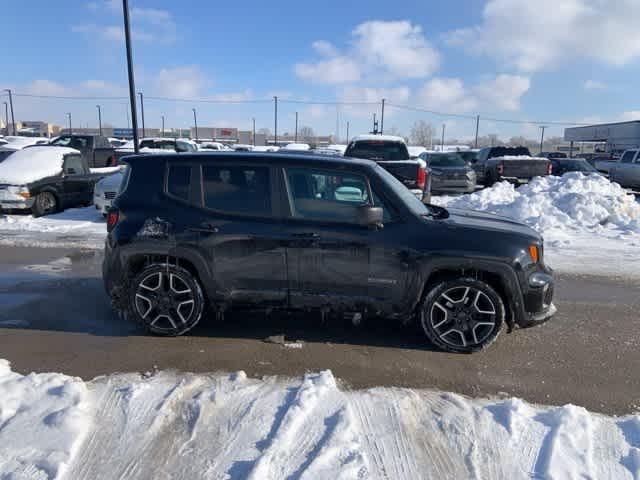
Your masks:
<instances>
[{"instance_id":1,"label":"dark tinted rear door window of the black Jeep","mask_svg":"<svg viewBox=\"0 0 640 480\"><path fill-rule=\"evenodd\" d=\"M269 169L248 165L202 168L204 205L225 213L265 216L271 213Z\"/></svg>"}]
</instances>

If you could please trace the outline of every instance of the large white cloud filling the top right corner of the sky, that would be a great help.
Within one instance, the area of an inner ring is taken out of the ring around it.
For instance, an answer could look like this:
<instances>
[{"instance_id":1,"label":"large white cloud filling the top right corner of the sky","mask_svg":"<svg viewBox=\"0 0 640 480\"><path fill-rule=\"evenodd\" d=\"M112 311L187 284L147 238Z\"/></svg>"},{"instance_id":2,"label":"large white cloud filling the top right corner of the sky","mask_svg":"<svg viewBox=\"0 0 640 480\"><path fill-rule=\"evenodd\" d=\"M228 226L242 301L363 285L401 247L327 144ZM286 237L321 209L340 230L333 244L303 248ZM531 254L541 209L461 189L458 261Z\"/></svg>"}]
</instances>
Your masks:
<instances>
[{"instance_id":1,"label":"large white cloud filling the top right corner of the sky","mask_svg":"<svg viewBox=\"0 0 640 480\"><path fill-rule=\"evenodd\" d=\"M482 22L449 44L534 72L576 59L625 65L640 57L638 0L488 0Z\"/></svg>"}]
</instances>

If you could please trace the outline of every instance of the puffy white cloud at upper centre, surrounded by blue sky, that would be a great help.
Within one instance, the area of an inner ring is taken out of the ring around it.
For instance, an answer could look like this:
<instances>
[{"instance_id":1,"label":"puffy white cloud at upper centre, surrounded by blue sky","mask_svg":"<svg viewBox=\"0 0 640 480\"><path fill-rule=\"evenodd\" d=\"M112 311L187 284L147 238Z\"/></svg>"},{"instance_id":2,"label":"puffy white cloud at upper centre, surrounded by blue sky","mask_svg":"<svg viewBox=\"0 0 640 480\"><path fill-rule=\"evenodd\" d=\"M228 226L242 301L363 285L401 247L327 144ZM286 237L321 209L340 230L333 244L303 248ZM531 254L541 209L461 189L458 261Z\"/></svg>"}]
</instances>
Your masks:
<instances>
[{"instance_id":1,"label":"puffy white cloud at upper centre, surrounded by blue sky","mask_svg":"<svg viewBox=\"0 0 640 480\"><path fill-rule=\"evenodd\" d=\"M355 83L366 75L386 82L427 77L440 63L440 55L426 40L422 28L408 21L365 22L351 34L353 42L344 52L330 42L314 42L313 49L323 59L296 64L296 75L333 85Z\"/></svg>"}]
</instances>

